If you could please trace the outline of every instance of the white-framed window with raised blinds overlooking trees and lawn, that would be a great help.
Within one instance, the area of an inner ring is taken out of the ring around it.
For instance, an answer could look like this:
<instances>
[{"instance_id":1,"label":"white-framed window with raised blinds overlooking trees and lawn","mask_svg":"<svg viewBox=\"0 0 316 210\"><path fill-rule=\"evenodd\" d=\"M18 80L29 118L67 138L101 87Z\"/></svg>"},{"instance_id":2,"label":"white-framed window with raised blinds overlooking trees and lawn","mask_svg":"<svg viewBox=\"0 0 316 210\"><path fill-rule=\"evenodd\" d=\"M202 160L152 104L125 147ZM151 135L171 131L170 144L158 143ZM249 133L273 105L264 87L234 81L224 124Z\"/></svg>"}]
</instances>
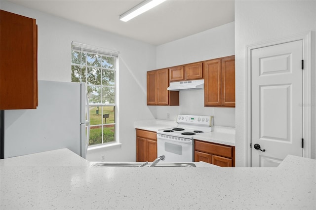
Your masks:
<instances>
[{"instance_id":1,"label":"white-framed window with raised blinds overlooking trees and lawn","mask_svg":"<svg viewBox=\"0 0 316 210\"><path fill-rule=\"evenodd\" d=\"M118 52L72 42L72 82L85 82L89 100L89 146L116 142Z\"/></svg>"}]
</instances>

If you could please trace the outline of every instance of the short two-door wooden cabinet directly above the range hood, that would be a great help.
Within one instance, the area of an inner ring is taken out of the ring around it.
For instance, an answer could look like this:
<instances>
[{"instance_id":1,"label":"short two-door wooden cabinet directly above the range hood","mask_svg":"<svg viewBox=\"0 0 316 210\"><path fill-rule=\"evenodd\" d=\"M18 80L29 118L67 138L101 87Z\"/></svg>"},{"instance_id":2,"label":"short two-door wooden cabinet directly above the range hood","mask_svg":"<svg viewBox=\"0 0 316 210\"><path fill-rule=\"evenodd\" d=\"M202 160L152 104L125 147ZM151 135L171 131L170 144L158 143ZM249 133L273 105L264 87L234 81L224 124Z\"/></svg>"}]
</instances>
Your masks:
<instances>
[{"instance_id":1,"label":"short two-door wooden cabinet directly above the range hood","mask_svg":"<svg viewBox=\"0 0 316 210\"><path fill-rule=\"evenodd\" d=\"M170 82L203 78L203 63L197 62L169 68Z\"/></svg>"}]
</instances>

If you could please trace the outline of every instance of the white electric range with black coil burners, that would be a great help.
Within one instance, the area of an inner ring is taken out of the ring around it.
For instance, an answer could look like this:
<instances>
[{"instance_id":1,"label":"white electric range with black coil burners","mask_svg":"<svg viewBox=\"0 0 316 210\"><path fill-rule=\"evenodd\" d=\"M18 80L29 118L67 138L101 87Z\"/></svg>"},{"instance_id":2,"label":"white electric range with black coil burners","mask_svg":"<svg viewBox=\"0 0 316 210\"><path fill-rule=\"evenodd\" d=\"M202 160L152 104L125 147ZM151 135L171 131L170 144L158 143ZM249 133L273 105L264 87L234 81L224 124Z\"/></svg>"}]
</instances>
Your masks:
<instances>
[{"instance_id":1,"label":"white electric range with black coil burners","mask_svg":"<svg viewBox=\"0 0 316 210\"><path fill-rule=\"evenodd\" d=\"M164 155L166 162L194 161L194 138L196 135L213 131L213 116L177 116L177 127L157 132L157 154Z\"/></svg>"}]
</instances>

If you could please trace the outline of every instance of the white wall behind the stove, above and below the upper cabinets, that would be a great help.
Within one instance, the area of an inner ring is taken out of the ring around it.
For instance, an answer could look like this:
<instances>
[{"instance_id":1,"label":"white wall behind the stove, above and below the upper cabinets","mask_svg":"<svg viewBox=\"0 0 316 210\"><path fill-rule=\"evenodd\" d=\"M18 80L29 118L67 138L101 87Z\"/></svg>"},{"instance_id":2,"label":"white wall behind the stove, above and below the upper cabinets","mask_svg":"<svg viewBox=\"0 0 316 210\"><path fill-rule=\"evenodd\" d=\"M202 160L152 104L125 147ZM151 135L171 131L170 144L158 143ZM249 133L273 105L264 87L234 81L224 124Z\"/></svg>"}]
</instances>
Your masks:
<instances>
[{"instance_id":1,"label":"white wall behind the stove, above and below the upper cabinets","mask_svg":"<svg viewBox=\"0 0 316 210\"><path fill-rule=\"evenodd\" d=\"M157 47L156 69L235 55L234 22ZM180 91L180 106L155 106L157 119L177 114L214 115L214 124L235 127L235 108L204 107L204 90Z\"/></svg>"}]
</instances>

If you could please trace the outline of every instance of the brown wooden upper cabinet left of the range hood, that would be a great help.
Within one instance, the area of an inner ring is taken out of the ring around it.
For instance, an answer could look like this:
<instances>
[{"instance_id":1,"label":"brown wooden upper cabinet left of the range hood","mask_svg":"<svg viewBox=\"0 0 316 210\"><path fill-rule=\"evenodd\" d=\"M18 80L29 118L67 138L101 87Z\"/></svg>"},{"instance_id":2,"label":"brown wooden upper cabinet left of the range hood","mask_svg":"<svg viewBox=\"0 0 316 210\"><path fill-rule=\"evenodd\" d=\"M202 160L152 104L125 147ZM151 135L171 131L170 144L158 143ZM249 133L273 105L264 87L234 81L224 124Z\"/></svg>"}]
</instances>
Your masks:
<instances>
[{"instance_id":1,"label":"brown wooden upper cabinet left of the range hood","mask_svg":"<svg viewBox=\"0 0 316 210\"><path fill-rule=\"evenodd\" d=\"M179 105L179 91L168 87L168 69L147 71L147 105Z\"/></svg>"}]
</instances>

